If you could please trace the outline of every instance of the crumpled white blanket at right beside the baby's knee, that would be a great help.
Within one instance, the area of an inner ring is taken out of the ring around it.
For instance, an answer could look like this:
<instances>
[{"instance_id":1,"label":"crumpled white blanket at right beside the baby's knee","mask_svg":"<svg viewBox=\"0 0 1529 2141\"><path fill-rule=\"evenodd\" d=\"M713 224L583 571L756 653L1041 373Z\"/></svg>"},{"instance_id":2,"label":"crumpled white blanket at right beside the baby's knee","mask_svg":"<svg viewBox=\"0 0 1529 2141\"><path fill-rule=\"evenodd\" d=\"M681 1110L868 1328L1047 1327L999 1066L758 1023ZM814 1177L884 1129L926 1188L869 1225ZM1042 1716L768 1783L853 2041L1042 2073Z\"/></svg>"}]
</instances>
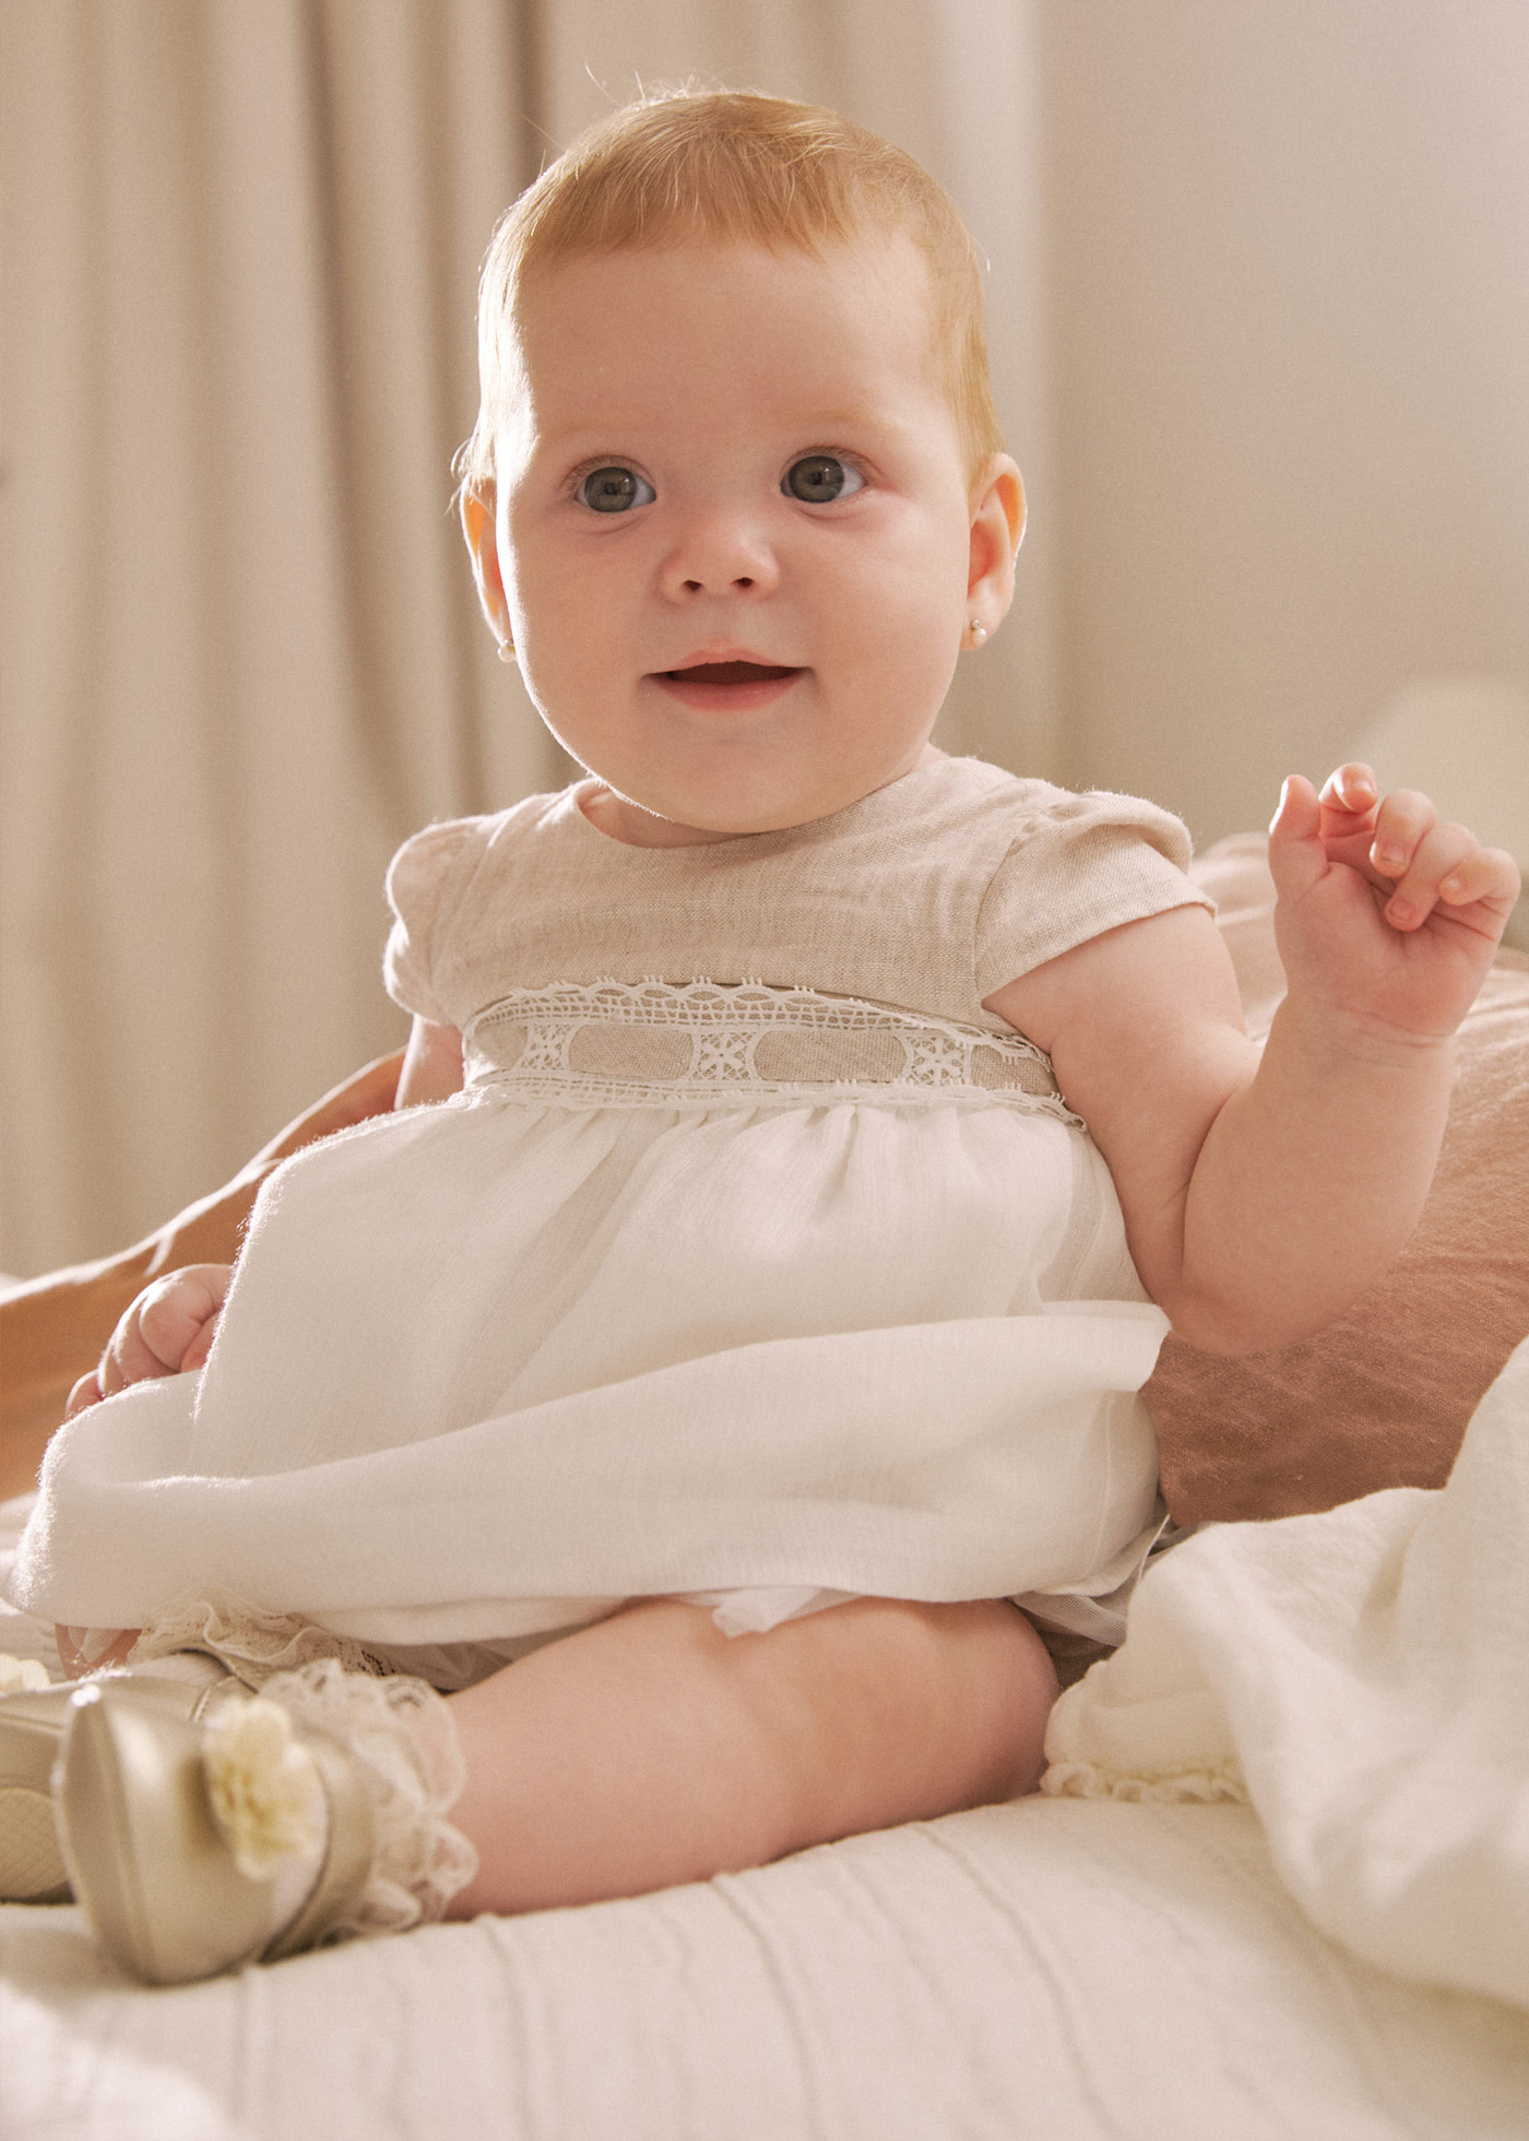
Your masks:
<instances>
[{"instance_id":1,"label":"crumpled white blanket at right beside the baby's knee","mask_svg":"<svg viewBox=\"0 0 1529 2141\"><path fill-rule=\"evenodd\" d=\"M1045 1790L1242 1798L1386 1970L1529 2004L1529 1340L1441 1492L1218 1524L1058 1704Z\"/></svg>"}]
</instances>

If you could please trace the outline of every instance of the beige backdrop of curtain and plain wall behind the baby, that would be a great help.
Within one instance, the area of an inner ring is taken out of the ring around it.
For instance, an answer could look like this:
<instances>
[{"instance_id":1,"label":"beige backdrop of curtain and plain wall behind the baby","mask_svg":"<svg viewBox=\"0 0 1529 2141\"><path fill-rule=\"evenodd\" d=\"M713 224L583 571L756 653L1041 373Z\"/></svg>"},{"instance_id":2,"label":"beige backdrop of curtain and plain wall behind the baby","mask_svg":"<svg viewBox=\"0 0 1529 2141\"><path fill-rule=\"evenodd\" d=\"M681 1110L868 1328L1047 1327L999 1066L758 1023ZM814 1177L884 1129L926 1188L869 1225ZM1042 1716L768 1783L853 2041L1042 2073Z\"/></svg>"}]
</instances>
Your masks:
<instances>
[{"instance_id":1,"label":"beige backdrop of curtain and plain wall behind the baby","mask_svg":"<svg viewBox=\"0 0 1529 2141\"><path fill-rule=\"evenodd\" d=\"M1529 728L1523 0L0 0L0 1267L394 1045L392 846L565 777L450 514L473 285L685 77L991 259L1032 516L940 741L1212 839L1398 694Z\"/></svg>"}]
</instances>

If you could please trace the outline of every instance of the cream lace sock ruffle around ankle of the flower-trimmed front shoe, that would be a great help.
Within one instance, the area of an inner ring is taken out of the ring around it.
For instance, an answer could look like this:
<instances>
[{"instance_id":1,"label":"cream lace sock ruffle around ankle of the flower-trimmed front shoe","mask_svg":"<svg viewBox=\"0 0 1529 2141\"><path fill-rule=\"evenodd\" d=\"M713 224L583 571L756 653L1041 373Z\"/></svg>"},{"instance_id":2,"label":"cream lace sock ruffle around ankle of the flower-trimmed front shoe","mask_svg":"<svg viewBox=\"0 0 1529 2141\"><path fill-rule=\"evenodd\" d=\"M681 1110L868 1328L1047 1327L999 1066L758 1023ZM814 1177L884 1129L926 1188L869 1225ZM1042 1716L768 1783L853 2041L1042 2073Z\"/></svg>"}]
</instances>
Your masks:
<instances>
[{"instance_id":1,"label":"cream lace sock ruffle around ankle of the flower-trimmed front shoe","mask_svg":"<svg viewBox=\"0 0 1529 2141\"><path fill-rule=\"evenodd\" d=\"M467 1764L445 1700L405 1674L377 1679L321 1657L261 1687L300 1732L323 1732L358 1764L373 1805L375 1856L366 1884L323 1935L407 1933L445 1916L478 1871L478 1852L445 1816Z\"/></svg>"}]
</instances>

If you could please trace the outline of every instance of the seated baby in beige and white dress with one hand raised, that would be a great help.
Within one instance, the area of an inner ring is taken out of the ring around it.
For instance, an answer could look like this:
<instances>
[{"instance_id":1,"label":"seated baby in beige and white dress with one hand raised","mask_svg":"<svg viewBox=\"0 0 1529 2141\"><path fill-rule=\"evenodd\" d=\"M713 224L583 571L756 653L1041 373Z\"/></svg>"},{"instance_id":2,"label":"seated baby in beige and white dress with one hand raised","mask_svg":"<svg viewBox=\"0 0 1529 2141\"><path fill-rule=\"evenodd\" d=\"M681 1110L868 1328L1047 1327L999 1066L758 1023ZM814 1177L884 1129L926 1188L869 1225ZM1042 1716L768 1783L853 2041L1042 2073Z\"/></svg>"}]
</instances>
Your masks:
<instances>
[{"instance_id":1,"label":"seated baby in beige and white dress with one hand raised","mask_svg":"<svg viewBox=\"0 0 1529 2141\"><path fill-rule=\"evenodd\" d=\"M1516 897L1424 796L1291 777L1259 1056L1176 820L929 743L1024 490L959 218L833 113L615 113L501 225L480 358L478 591L589 777L403 848L400 1111L135 1304L13 1582L131 1646L0 1764L62 1736L146 1976L1028 1792L1036 1623L1118 1638L1159 1531L1163 1332L1375 1280Z\"/></svg>"}]
</instances>

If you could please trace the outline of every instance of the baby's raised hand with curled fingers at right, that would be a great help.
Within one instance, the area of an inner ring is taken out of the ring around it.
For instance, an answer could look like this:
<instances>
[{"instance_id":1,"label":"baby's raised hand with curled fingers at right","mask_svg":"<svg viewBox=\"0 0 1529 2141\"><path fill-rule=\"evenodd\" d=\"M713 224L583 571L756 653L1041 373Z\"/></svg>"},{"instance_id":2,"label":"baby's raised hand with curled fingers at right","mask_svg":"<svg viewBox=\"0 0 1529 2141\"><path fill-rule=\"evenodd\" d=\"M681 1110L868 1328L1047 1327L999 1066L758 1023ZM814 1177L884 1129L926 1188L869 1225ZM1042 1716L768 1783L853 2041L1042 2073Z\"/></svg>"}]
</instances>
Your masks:
<instances>
[{"instance_id":1,"label":"baby's raised hand with curled fingers at right","mask_svg":"<svg viewBox=\"0 0 1529 2141\"><path fill-rule=\"evenodd\" d=\"M1270 826L1274 927L1291 996L1409 1038L1445 1038L1475 1000L1518 897L1518 867L1428 796L1381 801L1349 764L1321 794L1291 775Z\"/></svg>"}]
</instances>

